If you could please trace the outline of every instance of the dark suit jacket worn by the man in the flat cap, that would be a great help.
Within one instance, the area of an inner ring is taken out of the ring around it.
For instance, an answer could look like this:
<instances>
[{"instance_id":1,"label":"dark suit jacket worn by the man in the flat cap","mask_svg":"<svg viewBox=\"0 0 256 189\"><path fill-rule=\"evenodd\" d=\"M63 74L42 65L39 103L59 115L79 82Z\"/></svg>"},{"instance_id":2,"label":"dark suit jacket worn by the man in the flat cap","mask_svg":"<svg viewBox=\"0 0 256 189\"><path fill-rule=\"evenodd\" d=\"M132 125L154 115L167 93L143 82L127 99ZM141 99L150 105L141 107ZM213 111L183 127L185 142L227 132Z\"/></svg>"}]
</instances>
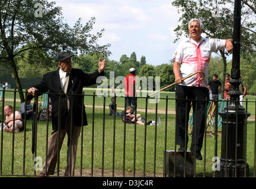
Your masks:
<instances>
[{"instance_id":1,"label":"dark suit jacket worn by the man in the flat cap","mask_svg":"<svg viewBox=\"0 0 256 189\"><path fill-rule=\"evenodd\" d=\"M84 71L80 69L72 69L69 75L69 84L67 94L70 103L72 101L72 120L75 126L84 126L88 125L87 123L87 116L85 113L85 106L82 105L82 98L81 95L75 94L82 94L82 88L84 86L90 86L96 83L98 76L103 76L104 71L100 74L98 71L92 74L84 73ZM42 93L46 93L49 90L49 97L52 100L52 128L53 130L58 129L58 119L59 119L59 93L61 93L61 101L60 101L60 128L67 127L67 119L68 119L68 110L67 110L67 100L66 94L62 91L60 86L60 77L59 77L59 70L51 71L49 73L44 74L43 80L40 84L37 84L36 89L38 89L39 95ZM71 93L73 92L73 97L71 100ZM84 109L84 113L82 116L82 109ZM71 109L70 109L71 110ZM82 120L83 118L83 120Z\"/></svg>"}]
</instances>

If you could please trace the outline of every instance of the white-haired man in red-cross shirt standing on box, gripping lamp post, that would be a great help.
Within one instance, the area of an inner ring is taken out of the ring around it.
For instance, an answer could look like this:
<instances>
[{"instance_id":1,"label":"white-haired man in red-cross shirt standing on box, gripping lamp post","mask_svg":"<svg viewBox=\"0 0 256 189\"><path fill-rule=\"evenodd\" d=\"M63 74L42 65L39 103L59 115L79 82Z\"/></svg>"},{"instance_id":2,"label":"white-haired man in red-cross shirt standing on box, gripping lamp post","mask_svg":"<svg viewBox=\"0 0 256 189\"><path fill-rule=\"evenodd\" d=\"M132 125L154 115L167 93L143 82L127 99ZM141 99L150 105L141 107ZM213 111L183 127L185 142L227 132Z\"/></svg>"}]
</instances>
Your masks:
<instances>
[{"instance_id":1,"label":"white-haired man in red-cross shirt standing on box, gripping lamp post","mask_svg":"<svg viewBox=\"0 0 256 189\"><path fill-rule=\"evenodd\" d=\"M185 129L188 126L188 119L185 120L186 114L189 118L189 112L191 109L191 100L186 102L185 98L198 99L192 100L193 113L193 134L190 150L194 152L197 159L201 160L201 147L203 145L203 133L205 127L205 99L209 99L208 84L208 68L210 55L217 50L223 50L226 47L228 52L233 50L232 39L219 40L209 39L201 37L203 32L203 24L199 19L191 19L188 23L188 31L190 37L181 41L177 50L172 56L171 60L174 61L173 71L175 75L176 96L177 99L177 144L180 145L180 151L187 151L187 144L185 144ZM183 82L182 78L195 73L196 71L203 71L205 77L200 80L202 75L196 74ZM187 103L187 112L186 112ZM197 109L196 109L197 106ZM195 141L196 131L196 141Z\"/></svg>"}]
</instances>

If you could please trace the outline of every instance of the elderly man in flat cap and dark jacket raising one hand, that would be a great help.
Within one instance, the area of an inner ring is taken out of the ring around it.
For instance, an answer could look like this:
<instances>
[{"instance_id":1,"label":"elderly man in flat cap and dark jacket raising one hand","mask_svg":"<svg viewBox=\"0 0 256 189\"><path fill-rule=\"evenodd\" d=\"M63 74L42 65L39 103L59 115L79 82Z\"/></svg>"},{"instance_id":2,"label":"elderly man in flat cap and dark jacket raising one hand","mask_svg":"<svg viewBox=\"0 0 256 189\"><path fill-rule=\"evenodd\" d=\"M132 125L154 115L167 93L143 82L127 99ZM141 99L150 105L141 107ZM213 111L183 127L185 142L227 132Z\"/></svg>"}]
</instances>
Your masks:
<instances>
[{"instance_id":1,"label":"elderly man in flat cap and dark jacket raising one hand","mask_svg":"<svg viewBox=\"0 0 256 189\"><path fill-rule=\"evenodd\" d=\"M87 116L85 114L85 106L82 105L83 96L73 95L71 104L71 93L73 92L73 94L82 94L82 89L84 86L95 84L97 77L104 75L103 70L105 68L105 59L101 61L101 58L99 58L98 70L95 71L95 73L87 74L80 69L72 69L72 56L73 55L67 52L58 53L56 56L56 62L59 69L44 74L41 83L28 89L29 95L32 95L36 92L41 95L42 93L46 93L49 90L49 97L52 100L52 133L48 139L47 162L44 162L43 170L39 175L54 174L57 163L58 141L60 142L60 151L66 133L68 133L68 158L65 175L74 175L76 149L81 126L88 125L88 123ZM62 94L62 97L60 98L60 110L59 93ZM71 109L73 111L72 120ZM60 131L58 129L59 122Z\"/></svg>"}]
</instances>

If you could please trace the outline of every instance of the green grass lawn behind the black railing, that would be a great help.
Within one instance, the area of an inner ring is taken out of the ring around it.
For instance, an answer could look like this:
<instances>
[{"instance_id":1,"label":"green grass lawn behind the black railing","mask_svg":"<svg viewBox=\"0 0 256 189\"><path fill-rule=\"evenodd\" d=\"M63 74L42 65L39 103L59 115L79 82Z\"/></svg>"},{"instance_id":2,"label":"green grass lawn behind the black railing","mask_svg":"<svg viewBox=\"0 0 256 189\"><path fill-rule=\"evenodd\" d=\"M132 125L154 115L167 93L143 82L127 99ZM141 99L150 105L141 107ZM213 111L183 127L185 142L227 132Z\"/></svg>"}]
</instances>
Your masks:
<instances>
[{"instance_id":1,"label":"green grass lawn behind the black railing","mask_svg":"<svg viewBox=\"0 0 256 189\"><path fill-rule=\"evenodd\" d=\"M94 90L87 89L85 94L92 94ZM13 95L13 94L12 94ZM161 93L161 97L174 97L174 93L164 92ZM11 92L6 95L7 98L11 98ZM17 96L18 97L18 96ZM254 100L252 96L250 100ZM110 97L106 98L106 105L110 103ZM5 104L13 102L5 102ZM254 102L255 103L255 102ZM255 112L255 104L252 103L248 106L248 112ZM124 107L124 99L117 98L117 104L119 107ZM85 105L92 105L92 97L85 97ZM103 97L95 98L95 105L103 105ZM168 108L174 109L175 101L168 100ZM16 109L20 107L20 102L16 103ZM138 100L138 107L145 108L145 99ZM0 103L0 119L2 119L2 103ZM150 105L149 108L154 109L155 104ZM159 109L165 109L165 100L161 99L158 103ZM103 154L104 154L104 169L105 170L124 170L145 172L151 174L156 172L157 175L162 175L164 164L164 149L165 149L165 135L167 135L167 149L175 148L174 133L175 133L175 115L168 115L167 133L165 132L165 115L158 114L162 120L159 126L145 126L124 124L121 122L120 117L116 117L116 125L114 126L113 116L109 116L109 110L105 110L105 127L103 135L103 109L95 108L94 127L92 127L92 108L86 108L88 117L88 126L83 128L83 141L82 141L82 169L91 170L93 168L103 168ZM145 113L138 112L145 118ZM148 120L155 120L155 113L148 113ZM221 129L221 128L219 128ZM49 135L52 131L52 125L49 123ZM92 140L92 131L94 131ZM0 132L1 133L1 132ZM104 136L104 138L103 138ZM136 136L136 137L135 137ZM145 138L146 136L146 138ZM254 138L255 136L255 123L248 121L247 131L247 162L250 168L250 175L254 174ZM24 157L24 132L20 132L14 135L12 133L3 132L2 141L2 175L12 174L12 155L13 155L13 174L14 175L33 175L34 174L34 161L31 154L31 138L32 129L31 121L27 121L27 132L25 133L25 157ZM191 141L191 135L189 136ZM12 146L12 140L14 139L14 146ZM104 141L104 152L103 152ZM124 143L125 141L125 143ZM135 143L136 142L136 143ZM67 137L63 142L62 150L60 153L60 169L63 170L66 167L66 149L67 149ZM93 153L92 153L92 144ZM146 144L146 146L145 146ZM125 146L125 151L124 151ZM155 148L156 146L156 148ZM188 144L190 146L190 143ZM221 137L217 138L217 152L220 157ZM114 149L113 149L114 147ZM14 154L12 154L12 148L14 148ZM178 148L178 146L177 146ZM146 150L146 151L145 151ZM156 151L155 151L156 150ZM204 147L202 149L204 153ZM205 175L212 177L214 172L212 171L212 158L215 157L215 138L206 138L206 164L203 161L196 161L196 175L203 176L204 167L206 169ZM44 161L46 154L46 122L38 123L37 133L37 157L41 157ZM113 157L114 154L114 157ZM125 156L124 156L125 154ZM23 159L25 161L23 162ZM125 158L125 159L124 159ZM93 162L92 162L93 159ZM155 161L156 159L156 161ZM125 160L125 161L124 161ZM144 161L145 160L145 161ZM113 162L114 161L114 162ZM93 163L93 164L92 164ZM25 165L25 169L23 167ZM76 169L79 171L81 168L81 136L79 138L78 152L76 159ZM56 167L57 168L57 167ZM37 171L39 173L39 171Z\"/></svg>"}]
</instances>

